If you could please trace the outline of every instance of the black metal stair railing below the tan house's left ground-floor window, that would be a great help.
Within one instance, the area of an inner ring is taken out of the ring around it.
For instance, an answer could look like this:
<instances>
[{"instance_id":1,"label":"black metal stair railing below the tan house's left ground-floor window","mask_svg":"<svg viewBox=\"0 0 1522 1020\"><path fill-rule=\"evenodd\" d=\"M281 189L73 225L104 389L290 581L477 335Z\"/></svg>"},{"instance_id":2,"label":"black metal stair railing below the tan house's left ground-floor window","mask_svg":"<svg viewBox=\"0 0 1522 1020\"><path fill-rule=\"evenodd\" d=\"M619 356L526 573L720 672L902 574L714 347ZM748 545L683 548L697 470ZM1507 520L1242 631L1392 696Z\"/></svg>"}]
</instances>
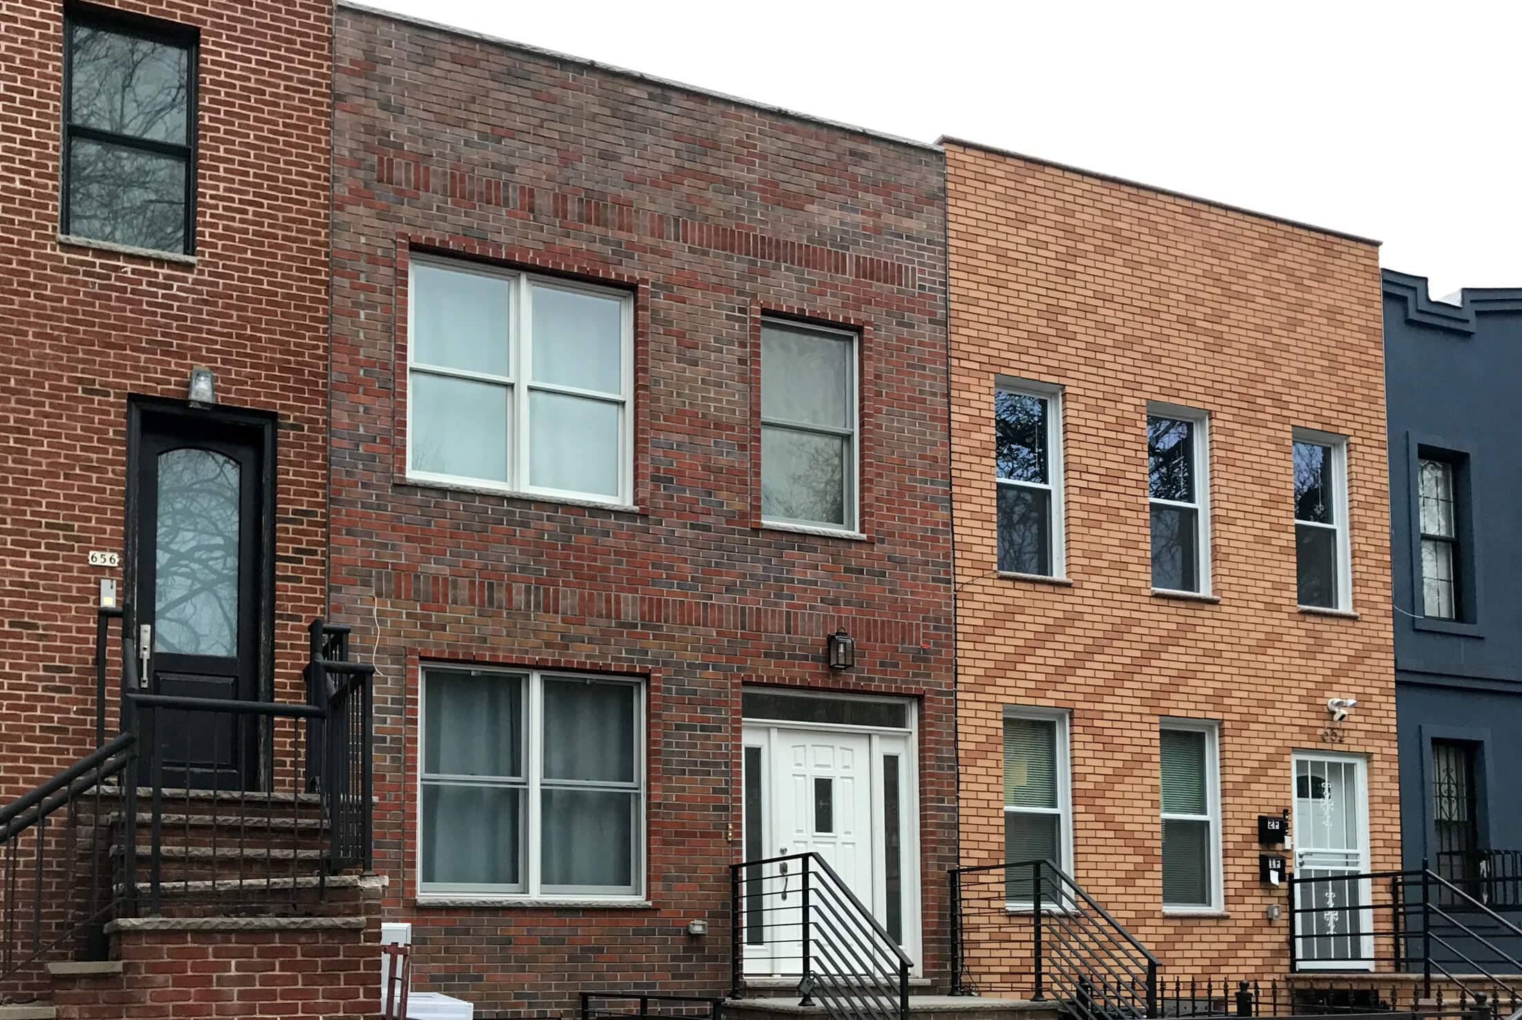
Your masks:
<instances>
[{"instance_id":1,"label":"black metal stair railing below the tan house's left ground-floor window","mask_svg":"<svg viewBox=\"0 0 1522 1020\"><path fill-rule=\"evenodd\" d=\"M1088 1020L1158 1015L1158 961L1050 860L954 868L951 994L1058 999Z\"/></svg>"}]
</instances>

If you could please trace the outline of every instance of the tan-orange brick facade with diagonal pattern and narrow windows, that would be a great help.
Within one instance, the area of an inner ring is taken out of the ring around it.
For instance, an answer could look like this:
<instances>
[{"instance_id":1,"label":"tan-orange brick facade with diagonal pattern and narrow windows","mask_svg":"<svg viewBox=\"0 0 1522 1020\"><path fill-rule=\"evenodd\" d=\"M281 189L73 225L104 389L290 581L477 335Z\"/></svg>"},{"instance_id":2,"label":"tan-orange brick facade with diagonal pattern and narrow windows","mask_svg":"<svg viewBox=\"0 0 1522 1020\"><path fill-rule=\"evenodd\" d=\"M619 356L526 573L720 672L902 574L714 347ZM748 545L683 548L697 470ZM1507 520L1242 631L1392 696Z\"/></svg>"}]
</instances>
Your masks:
<instances>
[{"instance_id":1,"label":"tan-orange brick facade with diagonal pattern and narrow windows","mask_svg":"<svg viewBox=\"0 0 1522 1020\"><path fill-rule=\"evenodd\" d=\"M947 174L962 860L1003 859L1003 708L1068 709L1078 881L1166 977L1283 971L1257 816L1294 749L1368 757L1370 863L1399 863L1376 247L956 142ZM1000 375L1062 387L1071 585L995 572ZM1152 594L1148 400L1210 414L1215 601ZM1358 618L1297 610L1297 426L1348 437ZM1163 912L1167 716L1221 725L1224 915Z\"/></svg>"}]
</instances>

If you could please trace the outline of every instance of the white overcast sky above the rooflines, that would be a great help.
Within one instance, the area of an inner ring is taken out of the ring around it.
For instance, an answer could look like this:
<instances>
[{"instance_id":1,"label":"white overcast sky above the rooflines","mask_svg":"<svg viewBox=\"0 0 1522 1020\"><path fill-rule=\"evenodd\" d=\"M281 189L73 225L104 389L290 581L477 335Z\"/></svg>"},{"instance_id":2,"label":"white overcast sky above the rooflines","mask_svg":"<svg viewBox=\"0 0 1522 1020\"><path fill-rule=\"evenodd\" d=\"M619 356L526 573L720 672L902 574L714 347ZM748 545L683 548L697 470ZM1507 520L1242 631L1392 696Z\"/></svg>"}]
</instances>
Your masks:
<instances>
[{"instance_id":1,"label":"white overcast sky above the rooflines","mask_svg":"<svg viewBox=\"0 0 1522 1020\"><path fill-rule=\"evenodd\" d=\"M367 0L831 120L956 135L1522 286L1522 2Z\"/></svg>"}]
</instances>

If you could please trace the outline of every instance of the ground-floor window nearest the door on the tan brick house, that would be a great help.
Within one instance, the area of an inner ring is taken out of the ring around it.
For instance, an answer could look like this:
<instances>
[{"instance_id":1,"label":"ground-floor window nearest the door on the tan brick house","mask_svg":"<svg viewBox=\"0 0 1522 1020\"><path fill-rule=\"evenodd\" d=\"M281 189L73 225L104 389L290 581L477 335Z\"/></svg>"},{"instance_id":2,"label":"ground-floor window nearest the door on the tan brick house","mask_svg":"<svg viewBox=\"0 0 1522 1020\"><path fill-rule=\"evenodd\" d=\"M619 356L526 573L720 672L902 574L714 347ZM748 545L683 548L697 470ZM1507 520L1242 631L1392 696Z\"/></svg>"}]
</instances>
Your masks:
<instances>
[{"instance_id":1,"label":"ground-floor window nearest the door on the tan brick house","mask_svg":"<svg viewBox=\"0 0 1522 1020\"><path fill-rule=\"evenodd\" d=\"M1163 906L1216 909L1215 731L1163 726Z\"/></svg>"}]
</instances>

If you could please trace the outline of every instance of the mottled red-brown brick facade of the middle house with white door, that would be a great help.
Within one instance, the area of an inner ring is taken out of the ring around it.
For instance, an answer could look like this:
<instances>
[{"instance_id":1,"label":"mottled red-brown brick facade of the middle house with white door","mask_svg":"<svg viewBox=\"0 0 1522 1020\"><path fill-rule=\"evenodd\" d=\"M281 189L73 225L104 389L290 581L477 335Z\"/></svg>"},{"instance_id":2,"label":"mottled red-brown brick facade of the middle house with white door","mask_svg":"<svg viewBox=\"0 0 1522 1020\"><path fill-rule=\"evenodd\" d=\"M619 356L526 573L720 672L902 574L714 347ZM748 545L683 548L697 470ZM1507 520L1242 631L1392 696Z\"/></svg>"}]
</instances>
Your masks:
<instances>
[{"instance_id":1,"label":"mottled red-brown brick facade of the middle house with white door","mask_svg":"<svg viewBox=\"0 0 1522 1020\"><path fill-rule=\"evenodd\" d=\"M380 668L376 868L388 920L414 924L419 983L476 1015L559 1012L578 990L726 991L741 684L918 700L942 979L941 154L358 9L336 20L330 607ZM633 294L633 507L405 478L406 269L425 250ZM758 527L763 312L861 338L860 537ZM837 626L857 667L833 674ZM428 662L647 681L647 904L419 903Z\"/></svg>"}]
</instances>

